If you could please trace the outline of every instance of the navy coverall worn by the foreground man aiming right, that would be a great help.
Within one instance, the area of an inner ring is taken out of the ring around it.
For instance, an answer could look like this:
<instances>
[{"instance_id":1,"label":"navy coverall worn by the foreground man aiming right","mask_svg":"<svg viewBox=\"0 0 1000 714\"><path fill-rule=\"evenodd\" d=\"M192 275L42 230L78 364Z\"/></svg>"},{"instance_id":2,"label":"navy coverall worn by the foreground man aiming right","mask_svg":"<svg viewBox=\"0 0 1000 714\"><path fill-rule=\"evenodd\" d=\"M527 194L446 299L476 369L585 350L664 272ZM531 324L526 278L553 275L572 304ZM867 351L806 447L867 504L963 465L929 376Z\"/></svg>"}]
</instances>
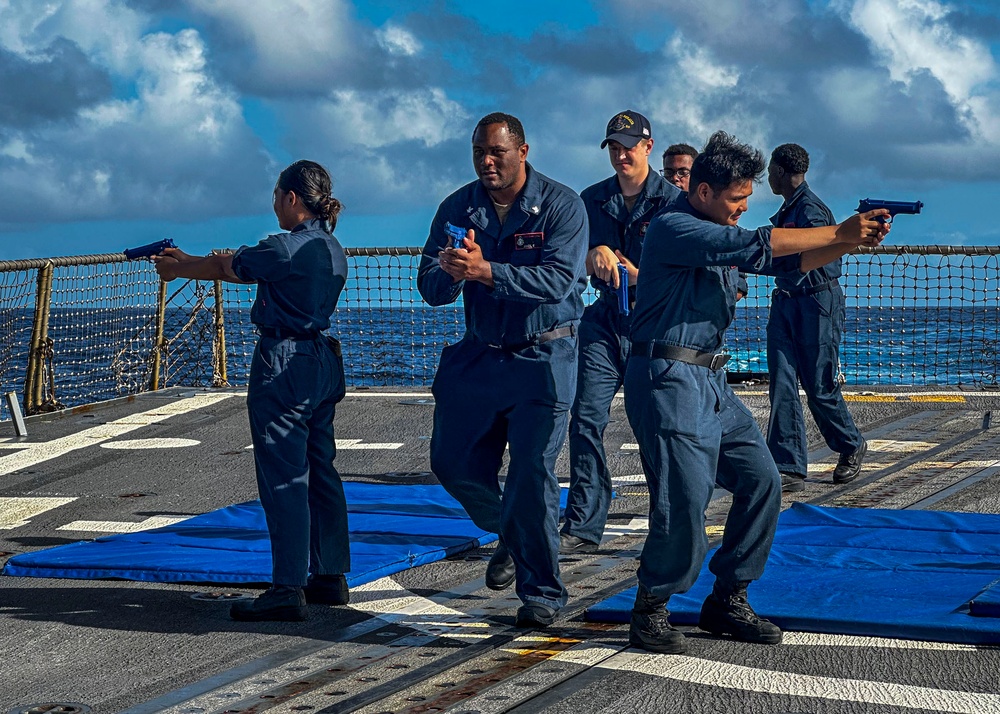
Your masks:
<instances>
[{"instance_id":1,"label":"navy coverall worn by the foreground man aiming right","mask_svg":"<svg viewBox=\"0 0 1000 714\"><path fill-rule=\"evenodd\" d=\"M698 577L708 551L705 509L717 483L733 494L709 564L720 584L758 579L770 552L781 479L753 416L726 383L722 360L712 360L733 319L738 269L773 267L770 231L708 221L685 194L646 232L625 411L650 494L639 582L656 598L685 592ZM789 269L799 257L778 263Z\"/></svg>"}]
</instances>

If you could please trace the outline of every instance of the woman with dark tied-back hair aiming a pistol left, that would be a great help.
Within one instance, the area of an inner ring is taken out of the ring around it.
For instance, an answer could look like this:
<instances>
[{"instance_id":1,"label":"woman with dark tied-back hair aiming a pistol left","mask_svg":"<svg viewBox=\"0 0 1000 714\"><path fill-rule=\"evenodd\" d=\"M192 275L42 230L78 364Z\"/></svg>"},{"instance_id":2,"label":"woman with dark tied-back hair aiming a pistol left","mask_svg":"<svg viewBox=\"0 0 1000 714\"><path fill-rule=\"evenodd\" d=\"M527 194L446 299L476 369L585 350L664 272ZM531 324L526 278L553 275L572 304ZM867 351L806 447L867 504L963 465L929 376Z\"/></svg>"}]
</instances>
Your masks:
<instances>
[{"instance_id":1,"label":"woman with dark tied-back hair aiming a pistol left","mask_svg":"<svg viewBox=\"0 0 1000 714\"><path fill-rule=\"evenodd\" d=\"M199 258L167 248L153 258L163 280L257 284L250 319L260 339L247 409L272 585L235 603L236 620L304 620L307 602L344 605L349 598L347 502L333 466L344 367L340 343L325 332L347 280L347 258L333 236L342 206L326 169L296 161L278 177L273 208L287 233L232 254Z\"/></svg>"}]
</instances>

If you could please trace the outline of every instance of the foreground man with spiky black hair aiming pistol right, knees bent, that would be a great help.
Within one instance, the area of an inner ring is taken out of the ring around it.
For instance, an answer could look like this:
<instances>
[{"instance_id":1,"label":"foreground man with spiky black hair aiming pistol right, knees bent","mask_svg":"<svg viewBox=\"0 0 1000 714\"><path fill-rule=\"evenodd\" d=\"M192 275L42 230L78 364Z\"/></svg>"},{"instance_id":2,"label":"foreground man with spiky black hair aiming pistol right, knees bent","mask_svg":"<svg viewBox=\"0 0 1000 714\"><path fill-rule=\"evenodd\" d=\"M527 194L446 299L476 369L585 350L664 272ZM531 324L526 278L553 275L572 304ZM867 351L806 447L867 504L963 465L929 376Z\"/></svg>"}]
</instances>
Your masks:
<instances>
[{"instance_id":1,"label":"foreground man with spiky black hair aiming pistol right, knees bent","mask_svg":"<svg viewBox=\"0 0 1000 714\"><path fill-rule=\"evenodd\" d=\"M698 577L716 484L732 492L733 502L709 565L715 587L699 626L748 642L781 641L781 630L747 602L747 585L763 573L774 538L781 480L757 423L726 383L727 356L718 353L733 319L738 271L810 270L876 244L885 232L872 219L884 210L826 228L739 228L763 171L760 151L717 132L694 162L691 190L646 233L625 410L639 442L650 518L629 641L654 652L684 650L666 603ZM780 256L789 257L774 260Z\"/></svg>"}]
</instances>

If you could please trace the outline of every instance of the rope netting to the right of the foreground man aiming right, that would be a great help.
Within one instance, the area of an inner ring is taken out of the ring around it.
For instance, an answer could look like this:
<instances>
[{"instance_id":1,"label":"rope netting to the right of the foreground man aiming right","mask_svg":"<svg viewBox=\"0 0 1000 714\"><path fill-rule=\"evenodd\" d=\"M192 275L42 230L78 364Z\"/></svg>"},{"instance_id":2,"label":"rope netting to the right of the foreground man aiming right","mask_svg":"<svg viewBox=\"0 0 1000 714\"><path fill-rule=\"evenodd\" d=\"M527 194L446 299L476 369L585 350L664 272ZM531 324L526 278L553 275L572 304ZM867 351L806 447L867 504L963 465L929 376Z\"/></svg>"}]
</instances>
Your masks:
<instances>
[{"instance_id":1,"label":"rope netting to the right of the foreground man aiming right","mask_svg":"<svg viewBox=\"0 0 1000 714\"><path fill-rule=\"evenodd\" d=\"M882 246L844 258L841 371L855 385L997 386L1000 247ZM727 368L767 373L773 281L750 276Z\"/></svg>"}]
</instances>

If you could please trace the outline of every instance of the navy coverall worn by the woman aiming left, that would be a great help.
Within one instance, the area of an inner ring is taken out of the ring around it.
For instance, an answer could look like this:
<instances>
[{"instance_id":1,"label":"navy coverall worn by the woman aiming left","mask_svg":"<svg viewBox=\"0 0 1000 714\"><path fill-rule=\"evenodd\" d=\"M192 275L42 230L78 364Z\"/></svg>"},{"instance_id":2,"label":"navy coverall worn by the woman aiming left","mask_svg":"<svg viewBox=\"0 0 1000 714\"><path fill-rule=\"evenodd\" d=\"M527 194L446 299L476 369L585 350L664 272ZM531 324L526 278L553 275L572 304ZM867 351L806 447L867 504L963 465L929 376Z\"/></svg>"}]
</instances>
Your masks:
<instances>
[{"instance_id":1,"label":"navy coverall worn by the woman aiming left","mask_svg":"<svg viewBox=\"0 0 1000 714\"><path fill-rule=\"evenodd\" d=\"M322 333L347 280L347 258L324 225L300 223L233 256L236 276L257 283L250 320L261 337L247 410L274 585L302 587L310 572L351 569L347 501L333 465L344 366L340 344Z\"/></svg>"}]
</instances>

